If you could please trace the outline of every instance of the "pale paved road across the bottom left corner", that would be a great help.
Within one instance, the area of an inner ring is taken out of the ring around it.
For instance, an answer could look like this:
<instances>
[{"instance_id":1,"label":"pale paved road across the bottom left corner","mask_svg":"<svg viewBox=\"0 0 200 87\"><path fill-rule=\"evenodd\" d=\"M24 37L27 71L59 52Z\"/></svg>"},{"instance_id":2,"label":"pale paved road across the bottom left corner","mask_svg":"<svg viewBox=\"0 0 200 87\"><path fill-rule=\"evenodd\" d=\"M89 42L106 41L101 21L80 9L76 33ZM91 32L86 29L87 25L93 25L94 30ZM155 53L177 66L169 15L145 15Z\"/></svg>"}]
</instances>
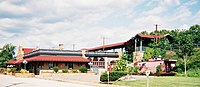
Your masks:
<instances>
[{"instance_id":1,"label":"pale paved road across the bottom left corner","mask_svg":"<svg viewBox=\"0 0 200 87\"><path fill-rule=\"evenodd\" d=\"M14 76L0 75L0 87L96 87L96 86L43 80L37 78L16 78Z\"/></svg>"}]
</instances>

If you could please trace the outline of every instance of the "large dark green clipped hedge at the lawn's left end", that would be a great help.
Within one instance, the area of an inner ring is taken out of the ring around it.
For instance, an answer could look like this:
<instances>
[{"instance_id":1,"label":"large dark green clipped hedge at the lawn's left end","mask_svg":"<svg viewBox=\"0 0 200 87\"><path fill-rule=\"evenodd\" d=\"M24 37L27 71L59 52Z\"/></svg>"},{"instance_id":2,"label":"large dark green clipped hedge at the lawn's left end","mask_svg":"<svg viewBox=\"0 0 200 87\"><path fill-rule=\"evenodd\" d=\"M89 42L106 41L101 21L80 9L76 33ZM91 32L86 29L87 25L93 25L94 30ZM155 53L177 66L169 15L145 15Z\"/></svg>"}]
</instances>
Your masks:
<instances>
[{"instance_id":1,"label":"large dark green clipped hedge at the lawn's left end","mask_svg":"<svg viewBox=\"0 0 200 87\"><path fill-rule=\"evenodd\" d=\"M116 81L119 78L121 78L122 76L125 76L127 74L128 74L128 72L124 72L124 71L113 71L113 72L110 72L109 73L109 81ZM108 81L108 74L107 74L107 72L103 73L100 76L100 81L102 81L102 82Z\"/></svg>"}]
</instances>

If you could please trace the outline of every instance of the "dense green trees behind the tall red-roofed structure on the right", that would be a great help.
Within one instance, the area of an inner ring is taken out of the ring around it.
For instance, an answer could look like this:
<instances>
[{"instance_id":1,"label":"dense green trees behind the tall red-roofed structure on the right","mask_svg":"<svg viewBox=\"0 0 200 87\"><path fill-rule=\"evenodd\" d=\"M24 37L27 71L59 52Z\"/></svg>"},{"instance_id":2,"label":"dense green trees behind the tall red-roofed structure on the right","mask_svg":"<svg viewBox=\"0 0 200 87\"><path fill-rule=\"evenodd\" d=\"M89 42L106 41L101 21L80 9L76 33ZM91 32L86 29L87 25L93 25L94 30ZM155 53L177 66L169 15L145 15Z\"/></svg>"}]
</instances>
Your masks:
<instances>
[{"instance_id":1,"label":"dense green trees behind the tall red-roofed structure on the right","mask_svg":"<svg viewBox=\"0 0 200 87\"><path fill-rule=\"evenodd\" d=\"M164 59L177 59L176 70L177 72L184 72L186 70L198 70L200 68L200 25L196 24L189 29L174 29L174 30L160 30L147 32L143 31L141 34L149 35L162 35L170 34L172 40L166 37L153 39L144 52L142 61L148 61L149 58L162 56ZM126 55L133 55L135 51L134 38L131 38L125 44ZM199 45L199 46L198 46ZM128 56L127 56L128 57ZM130 61L130 58L125 57ZM132 61L130 61L132 62ZM192 71L193 72L193 71ZM196 72L196 71L195 71ZM200 69L199 69L200 76Z\"/></svg>"}]
</instances>

